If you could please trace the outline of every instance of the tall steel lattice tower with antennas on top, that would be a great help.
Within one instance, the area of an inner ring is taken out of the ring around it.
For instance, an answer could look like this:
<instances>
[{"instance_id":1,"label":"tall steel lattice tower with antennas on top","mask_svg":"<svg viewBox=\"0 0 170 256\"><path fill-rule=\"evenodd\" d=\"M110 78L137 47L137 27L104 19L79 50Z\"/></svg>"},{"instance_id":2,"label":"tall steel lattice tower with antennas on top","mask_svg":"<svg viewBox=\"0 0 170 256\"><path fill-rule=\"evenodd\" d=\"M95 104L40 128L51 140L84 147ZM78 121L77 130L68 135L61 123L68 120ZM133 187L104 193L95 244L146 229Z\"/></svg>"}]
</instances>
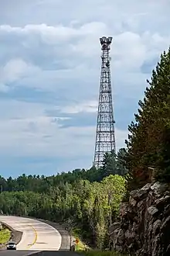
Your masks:
<instances>
[{"instance_id":1,"label":"tall steel lattice tower with antennas on top","mask_svg":"<svg viewBox=\"0 0 170 256\"><path fill-rule=\"evenodd\" d=\"M115 152L114 110L112 103L109 51L112 37L103 36L101 44L100 93L97 113L96 144L93 164L99 168L106 152Z\"/></svg>"}]
</instances>

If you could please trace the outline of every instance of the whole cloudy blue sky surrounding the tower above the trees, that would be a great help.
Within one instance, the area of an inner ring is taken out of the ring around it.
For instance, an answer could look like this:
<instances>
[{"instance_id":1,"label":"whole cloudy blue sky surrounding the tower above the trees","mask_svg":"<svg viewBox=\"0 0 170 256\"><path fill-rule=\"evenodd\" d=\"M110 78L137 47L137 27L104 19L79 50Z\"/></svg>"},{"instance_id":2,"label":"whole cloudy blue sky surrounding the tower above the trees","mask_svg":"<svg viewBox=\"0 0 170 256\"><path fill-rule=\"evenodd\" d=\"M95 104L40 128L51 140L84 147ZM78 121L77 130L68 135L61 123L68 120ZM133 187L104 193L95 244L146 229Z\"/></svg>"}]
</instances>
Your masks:
<instances>
[{"instance_id":1,"label":"whole cloudy blue sky surrounding the tower above the trees","mask_svg":"<svg viewBox=\"0 0 170 256\"><path fill-rule=\"evenodd\" d=\"M117 150L170 44L169 0L0 0L0 175L93 162L100 36L113 36Z\"/></svg>"}]
</instances>

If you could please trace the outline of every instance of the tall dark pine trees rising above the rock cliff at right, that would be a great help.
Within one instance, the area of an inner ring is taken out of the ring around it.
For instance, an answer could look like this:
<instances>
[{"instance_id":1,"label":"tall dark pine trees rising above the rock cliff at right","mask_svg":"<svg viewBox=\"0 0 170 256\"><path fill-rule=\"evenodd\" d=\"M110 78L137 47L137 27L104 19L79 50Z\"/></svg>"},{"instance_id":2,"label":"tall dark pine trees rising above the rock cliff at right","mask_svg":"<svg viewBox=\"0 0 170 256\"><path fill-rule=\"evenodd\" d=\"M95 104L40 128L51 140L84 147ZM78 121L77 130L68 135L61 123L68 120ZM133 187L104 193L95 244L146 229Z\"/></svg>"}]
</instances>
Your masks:
<instances>
[{"instance_id":1,"label":"tall dark pine trees rising above the rock cliff at right","mask_svg":"<svg viewBox=\"0 0 170 256\"><path fill-rule=\"evenodd\" d=\"M148 167L158 170L162 177L165 157L168 157L168 123L170 121L170 48L161 55L161 60L152 71L145 98L138 103L135 123L128 127L126 140L128 154L127 168L131 173L130 189L136 189L148 182ZM165 153L166 152L166 153ZM169 156L170 157L170 156ZM168 166L166 166L168 171Z\"/></svg>"}]
</instances>

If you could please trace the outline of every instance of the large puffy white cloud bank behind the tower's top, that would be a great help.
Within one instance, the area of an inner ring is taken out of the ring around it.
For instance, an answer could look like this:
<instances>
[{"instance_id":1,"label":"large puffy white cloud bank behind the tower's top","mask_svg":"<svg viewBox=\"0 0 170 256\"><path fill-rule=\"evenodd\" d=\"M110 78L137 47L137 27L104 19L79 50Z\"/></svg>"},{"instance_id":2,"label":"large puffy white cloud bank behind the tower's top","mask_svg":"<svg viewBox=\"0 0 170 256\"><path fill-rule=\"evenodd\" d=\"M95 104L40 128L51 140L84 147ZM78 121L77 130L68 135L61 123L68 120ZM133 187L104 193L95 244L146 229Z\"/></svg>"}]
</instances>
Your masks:
<instances>
[{"instance_id":1,"label":"large puffy white cloud bank behind the tower's top","mask_svg":"<svg viewBox=\"0 0 170 256\"><path fill-rule=\"evenodd\" d=\"M8 76L7 81L22 78L17 85L22 83L22 86L48 91L67 88L69 95L72 81L74 92L76 83L80 83L82 92L86 93L87 88L92 88L91 92L94 94L97 92L100 74L99 36L104 31L107 35L113 33L103 22L90 22L76 28L45 24L0 26L0 35L3 32L4 40L8 36L15 36L18 43L18 47L15 45L10 55L11 59L8 59L2 69L2 78ZM170 36L147 31L125 31L113 36L112 77L114 80L120 78L121 85L124 85L130 74L135 89L138 83L136 74L142 75L141 66L145 61L155 60L168 47ZM8 47L6 50L8 51ZM7 53L6 56L8 57ZM124 76L120 75L122 72ZM87 81L86 85L83 85L84 81ZM145 79L142 83L145 83ZM77 92L78 90L79 88ZM128 89L126 92L128 93Z\"/></svg>"}]
</instances>

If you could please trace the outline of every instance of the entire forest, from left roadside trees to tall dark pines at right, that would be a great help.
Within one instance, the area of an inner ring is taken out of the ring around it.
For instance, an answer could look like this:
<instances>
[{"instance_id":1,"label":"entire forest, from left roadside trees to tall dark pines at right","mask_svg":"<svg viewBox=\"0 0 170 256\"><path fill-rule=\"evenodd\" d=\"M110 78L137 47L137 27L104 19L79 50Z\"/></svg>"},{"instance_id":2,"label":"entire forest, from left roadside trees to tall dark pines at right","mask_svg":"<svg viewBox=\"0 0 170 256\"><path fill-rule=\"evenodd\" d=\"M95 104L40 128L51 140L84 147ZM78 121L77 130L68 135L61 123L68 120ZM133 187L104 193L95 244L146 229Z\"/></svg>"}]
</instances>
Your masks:
<instances>
[{"instance_id":1,"label":"entire forest, from left roadside trees to tall dark pines at right","mask_svg":"<svg viewBox=\"0 0 170 256\"><path fill-rule=\"evenodd\" d=\"M68 223L91 247L109 246L108 228L128 192L149 180L170 182L170 48L161 54L138 113L128 126L126 149L104 155L99 169L50 177L0 177L1 213Z\"/></svg>"}]
</instances>

